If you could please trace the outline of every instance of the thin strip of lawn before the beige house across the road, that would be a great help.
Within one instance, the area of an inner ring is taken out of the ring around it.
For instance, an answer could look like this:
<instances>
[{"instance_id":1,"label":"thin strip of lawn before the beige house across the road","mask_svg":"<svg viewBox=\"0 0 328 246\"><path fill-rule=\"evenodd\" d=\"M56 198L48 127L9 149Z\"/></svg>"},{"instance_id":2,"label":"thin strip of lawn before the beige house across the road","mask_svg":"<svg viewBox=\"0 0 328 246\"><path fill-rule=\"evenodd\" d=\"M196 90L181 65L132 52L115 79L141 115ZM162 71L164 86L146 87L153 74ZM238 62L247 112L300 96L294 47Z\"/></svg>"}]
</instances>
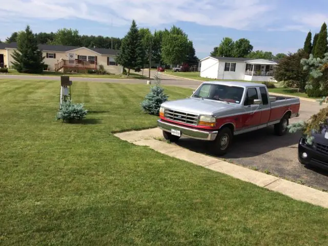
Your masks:
<instances>
[{"instance_id":1,"label":"thin strip of lawn before the beige house across the road","mask_svg":"<svg viewBox=\"0 0 328 246\"><path fill-rule=\"evenodd\" d=\"M85 78L131 78L131 79L142 79L146 78L145 76L142 76L137 73L130 73L130 76L122 75L122 74L88 74L88 73L61 73L61 72L55 72L55 71L44 71L40 74L32 74L32 73L18 73L15 69L9 69L8 70L9 75L33 75L33 76L61 76L61 75L68 75L71 77L85 77Z\"/></svg>"}]
</instances>

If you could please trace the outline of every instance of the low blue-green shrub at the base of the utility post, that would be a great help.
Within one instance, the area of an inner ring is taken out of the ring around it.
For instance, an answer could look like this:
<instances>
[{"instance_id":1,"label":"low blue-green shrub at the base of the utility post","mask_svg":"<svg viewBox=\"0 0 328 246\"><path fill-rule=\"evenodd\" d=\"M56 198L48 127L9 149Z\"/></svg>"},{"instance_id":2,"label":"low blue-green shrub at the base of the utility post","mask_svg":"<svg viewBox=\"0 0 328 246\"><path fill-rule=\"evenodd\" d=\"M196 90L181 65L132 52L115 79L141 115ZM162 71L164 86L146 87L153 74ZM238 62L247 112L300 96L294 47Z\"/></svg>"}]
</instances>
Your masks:
<instances>
[{"instance_id":1,"label":"low blue-green shrub at the base of the utility post","mask_svg":"<svg viewBox=\"0 0 328 246\"><path fill-rule=\"evenodd\" d=\"M68 100L60 105L57 113L57 119L62 119L64 122L73 122L86 117L88 110L84 109L84 104L73 104Z\"/></svg>"}]
</instances>

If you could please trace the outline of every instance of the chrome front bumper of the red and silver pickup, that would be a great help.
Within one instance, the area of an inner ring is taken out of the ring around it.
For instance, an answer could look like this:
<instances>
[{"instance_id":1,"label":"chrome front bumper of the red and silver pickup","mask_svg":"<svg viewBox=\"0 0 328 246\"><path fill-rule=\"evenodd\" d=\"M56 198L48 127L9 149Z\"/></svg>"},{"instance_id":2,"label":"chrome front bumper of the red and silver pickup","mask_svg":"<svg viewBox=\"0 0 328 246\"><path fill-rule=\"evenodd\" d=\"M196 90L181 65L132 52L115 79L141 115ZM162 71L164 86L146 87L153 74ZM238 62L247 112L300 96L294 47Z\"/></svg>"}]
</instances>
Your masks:
<instances>
[{"instance_id":1,"label":"chrome front bumper of the red and silver pickup","mask_svg":"<svg viewBox=\"0 0 328 246\"><path fill-rule=\"evenodd\" d=\"M174 129L180 131L181 136L200 140L213 141L218 133L218 131L199 130L191 127L180 126L162 119L157 120L157 125L163 131L171 132L171 129Z\"/></svg>"}]
</instances>

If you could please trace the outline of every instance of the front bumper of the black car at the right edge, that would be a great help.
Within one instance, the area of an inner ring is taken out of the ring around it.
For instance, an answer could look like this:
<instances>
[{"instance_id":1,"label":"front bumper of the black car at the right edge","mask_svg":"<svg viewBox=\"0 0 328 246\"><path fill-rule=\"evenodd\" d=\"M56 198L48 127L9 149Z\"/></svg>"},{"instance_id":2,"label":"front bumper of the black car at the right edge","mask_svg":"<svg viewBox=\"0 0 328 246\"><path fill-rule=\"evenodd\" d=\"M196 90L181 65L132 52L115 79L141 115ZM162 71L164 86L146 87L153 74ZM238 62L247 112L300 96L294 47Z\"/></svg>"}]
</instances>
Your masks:
<instances>
[{"instance_id":1,"label":"front bumper of the black car at the right edge","mask_svg":"<svg viewBox=\"0 0 328 246\"><path fill-rule=\"evenodd\" d=\"M303 158L303 153L306 153L308 157ZM328 155L317 151L313 147L298 144L298 160L303 165L315 166L328 170Z\"/></svg>"}]
</instances>

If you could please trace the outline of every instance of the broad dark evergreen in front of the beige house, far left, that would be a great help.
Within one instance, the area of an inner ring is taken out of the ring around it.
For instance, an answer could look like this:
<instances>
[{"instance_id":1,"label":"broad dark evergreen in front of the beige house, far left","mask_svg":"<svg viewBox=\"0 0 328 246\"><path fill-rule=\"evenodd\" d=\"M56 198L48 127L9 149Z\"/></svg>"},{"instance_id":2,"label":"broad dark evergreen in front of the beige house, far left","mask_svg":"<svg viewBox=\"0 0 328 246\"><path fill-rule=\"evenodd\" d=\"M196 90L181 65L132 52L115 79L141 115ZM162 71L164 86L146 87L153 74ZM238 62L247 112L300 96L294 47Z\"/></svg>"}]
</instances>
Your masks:
<instances>
[{"instance_id":1,"label":"broad dark evergreen in front of the beige house, far left","mask_svg":"<svg viewBox=\"0 0 328 246\"><path fill-rule=\"evenodd\" d=\"M14 50L13 66L19 73L42 73L45 64L42 51L37 47L37 40L27 26L25 32L20 32L17 36L17 50Z\"/></svg>"}]
</instances>

